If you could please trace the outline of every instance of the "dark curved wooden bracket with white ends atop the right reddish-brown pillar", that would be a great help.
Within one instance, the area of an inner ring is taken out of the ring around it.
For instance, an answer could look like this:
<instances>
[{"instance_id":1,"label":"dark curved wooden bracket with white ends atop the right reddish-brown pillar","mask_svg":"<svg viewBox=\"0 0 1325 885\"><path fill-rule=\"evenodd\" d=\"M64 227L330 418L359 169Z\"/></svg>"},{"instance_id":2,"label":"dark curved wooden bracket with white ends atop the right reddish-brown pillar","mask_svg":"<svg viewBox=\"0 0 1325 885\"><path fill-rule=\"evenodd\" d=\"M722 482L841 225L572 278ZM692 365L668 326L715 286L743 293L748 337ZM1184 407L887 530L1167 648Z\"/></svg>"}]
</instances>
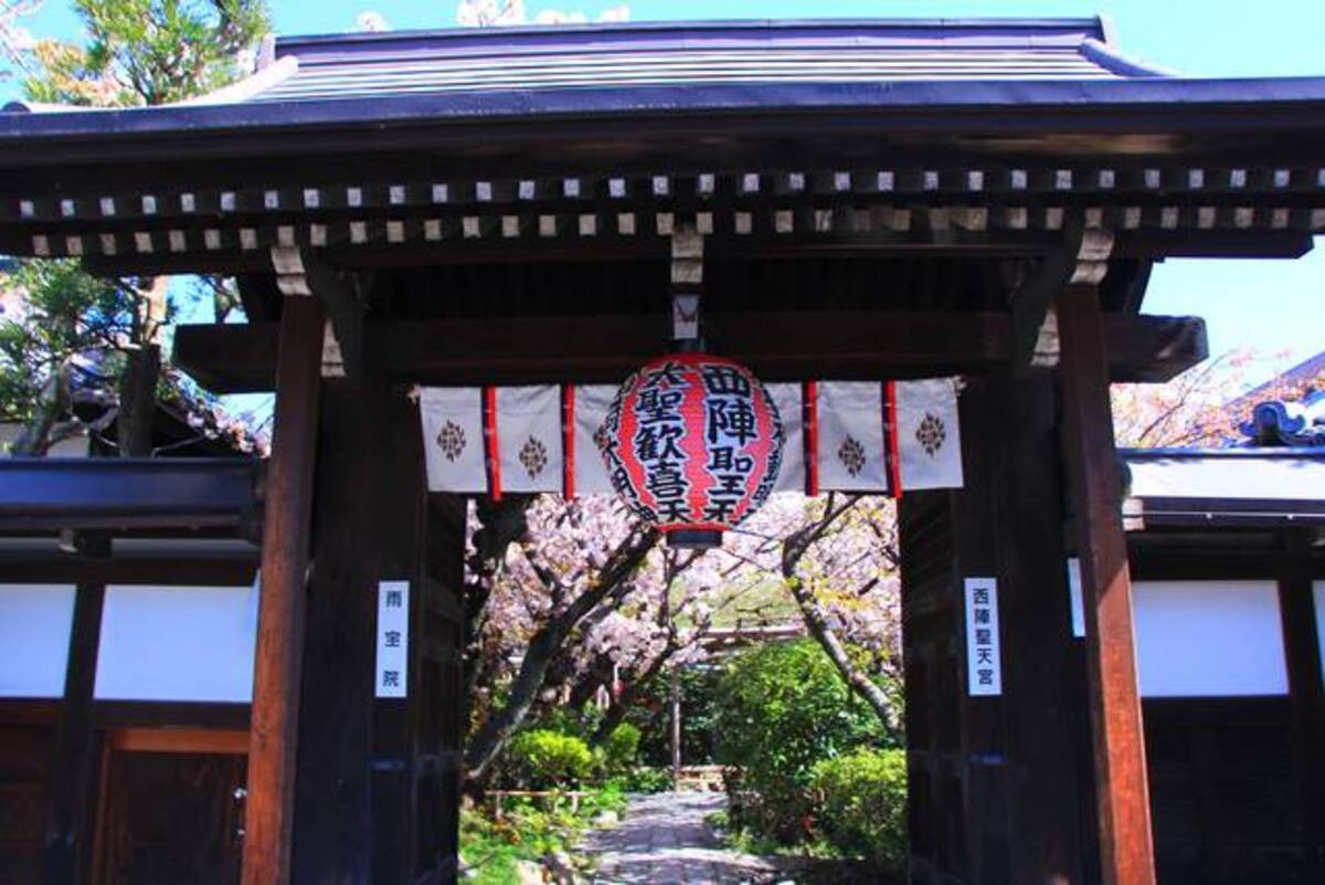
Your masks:
<instances>
[{"instance_id":1,"label":"dark curved wooden bracket with white ends atop the right reddish-brown pillar","mask_svg":"<svg viewBox=\"0 0 1325 885\"><path fill-rule=\"evenodd\" d=\"M1097 285L1109 272L1113 233L1086 227L1084 216L1064 223L1063 246L1022 282L1012 297L1012 370L1059 364L1059 317L1055 302L1073 284Z\"/></svg>"}]
</instances>

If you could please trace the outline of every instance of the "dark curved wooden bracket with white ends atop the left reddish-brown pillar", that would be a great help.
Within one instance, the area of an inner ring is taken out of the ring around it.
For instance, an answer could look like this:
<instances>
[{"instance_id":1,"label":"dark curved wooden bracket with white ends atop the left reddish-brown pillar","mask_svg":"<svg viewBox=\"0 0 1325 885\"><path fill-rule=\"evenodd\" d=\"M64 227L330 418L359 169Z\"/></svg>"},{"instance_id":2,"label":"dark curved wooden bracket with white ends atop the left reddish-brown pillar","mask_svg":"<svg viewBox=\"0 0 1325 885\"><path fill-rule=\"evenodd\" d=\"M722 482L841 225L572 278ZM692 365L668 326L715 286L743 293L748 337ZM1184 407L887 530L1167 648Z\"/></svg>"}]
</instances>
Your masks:
<instances>
[{"instance_id":1,"label":"dark curved wooden bracket with white ends atop the left reddish-brown pillar","mask_svg":"<svg viewBox=\"0 0 1325 885\"><path fill-rule=\"evenodd\" d=\"M272 246L276 285L286 297L317 298L326 306L322 378L363 378L366 286L333 270L315 254L294 246Z\"/></svg>"}]
</instances>

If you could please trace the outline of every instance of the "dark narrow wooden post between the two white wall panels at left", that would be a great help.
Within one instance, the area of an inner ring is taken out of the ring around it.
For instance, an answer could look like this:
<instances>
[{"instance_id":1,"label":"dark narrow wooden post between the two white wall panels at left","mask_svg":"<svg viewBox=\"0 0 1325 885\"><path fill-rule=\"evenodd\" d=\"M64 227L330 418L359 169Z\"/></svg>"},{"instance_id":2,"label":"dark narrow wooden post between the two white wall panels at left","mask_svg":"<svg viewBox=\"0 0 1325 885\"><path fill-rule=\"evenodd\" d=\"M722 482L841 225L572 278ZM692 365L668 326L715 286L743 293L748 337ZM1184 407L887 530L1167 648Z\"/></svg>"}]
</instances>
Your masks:
<instances>
[{"instance_id":1,"label":"dark narrow wooden post between the two white wall panels at left","mask_svg":"<svg viewBox=\"0 0 1325 885\"><path fill-rule=\"evenodd\" d=\"M110 551L109 541L101 541L98 546L101 552ZM50 766L50 807L41 877L45 885L89 881L91 831L95 825L93 784L97 780L91 706L105 598L106 587L101 582L78 584L69 635L65 697Z\"/></svg>"}]
</instances>

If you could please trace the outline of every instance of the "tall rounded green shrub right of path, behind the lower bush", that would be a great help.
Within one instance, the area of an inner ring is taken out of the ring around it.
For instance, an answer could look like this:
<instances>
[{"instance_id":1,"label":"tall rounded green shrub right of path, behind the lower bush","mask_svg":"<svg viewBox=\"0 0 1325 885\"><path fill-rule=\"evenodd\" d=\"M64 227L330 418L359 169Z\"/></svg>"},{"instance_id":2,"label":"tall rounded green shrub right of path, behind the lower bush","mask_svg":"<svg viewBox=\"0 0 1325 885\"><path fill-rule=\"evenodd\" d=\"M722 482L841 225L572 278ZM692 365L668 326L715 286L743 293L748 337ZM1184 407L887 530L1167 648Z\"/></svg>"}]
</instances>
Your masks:
<instances>
[{"instance_id":1,"label":"tall rounded green shrub right of path, behind the lower bush","mask_svg":"<svg viewBox=\"0 0 1325 885\"><path fill-rule=\"evenodd\" d=\"M721 681L717 731L735 823L786 843L812 824L814 766L882 737L810 640L734 657Z\"/></svg>"}]
</instances>

